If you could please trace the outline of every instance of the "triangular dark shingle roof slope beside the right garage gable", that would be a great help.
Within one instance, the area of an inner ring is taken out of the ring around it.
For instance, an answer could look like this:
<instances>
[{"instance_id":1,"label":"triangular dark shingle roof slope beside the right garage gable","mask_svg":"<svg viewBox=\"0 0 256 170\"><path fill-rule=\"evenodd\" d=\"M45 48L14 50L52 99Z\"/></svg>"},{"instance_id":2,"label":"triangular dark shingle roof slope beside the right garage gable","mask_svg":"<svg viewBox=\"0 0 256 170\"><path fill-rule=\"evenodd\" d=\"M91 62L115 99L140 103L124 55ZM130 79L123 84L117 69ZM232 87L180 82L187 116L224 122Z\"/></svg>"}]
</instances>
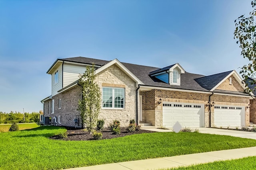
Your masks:
<instances>
[{"instance_id":1,"label":"triangular dark shingle roof slope beside the right garage gable","mask_svg":"<svg viewBox=\"0 0 256 170\"><path fill-rule=\"evenodd\" d=\"M203 88L207 90L211 90L216 86L221 80L223 80L228 74L230 74L233 70L227 71L227 72L222 72L218 74L212 74L210 76L204 76L201 78L196 78L196 82L200 84Z\"/></svg>"}]
</instances>

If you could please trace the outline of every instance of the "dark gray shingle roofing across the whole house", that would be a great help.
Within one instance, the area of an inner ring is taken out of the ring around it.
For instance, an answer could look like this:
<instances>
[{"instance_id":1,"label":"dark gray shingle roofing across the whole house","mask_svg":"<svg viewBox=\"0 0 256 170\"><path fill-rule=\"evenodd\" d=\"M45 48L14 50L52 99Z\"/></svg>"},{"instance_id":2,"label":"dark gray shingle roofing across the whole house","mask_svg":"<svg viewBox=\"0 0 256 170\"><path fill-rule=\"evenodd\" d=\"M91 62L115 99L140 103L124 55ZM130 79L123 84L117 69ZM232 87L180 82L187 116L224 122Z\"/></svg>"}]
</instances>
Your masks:
<instances>
[{"instance_id":1,"label":"dark gray shingle roofing across the whole house","mask_svg":"<svg viewBox=\"0 0 256 170\"><path fill-rule=\"evenodd\" d=\"M73 58L66 58L66 59L59 59L62 61L71 61L77 63L86 63L91 64L94 63L96 65L104 65L110 61L105 60L98 60L98 59L90 59L85 57L73 57ZM200 91L209 91L214 86L216 86L221 80L223 80L230 72L222 72L218 74L213 74L210 76L204 76L200 74L193 74L189 72L185 72L181 74L181 85L170 85L164 83L154 76L150 76L150 74L154 74L159 71L168 70L173 65L164 67L164 68L157 68L151 66L142 66L137 64L130 64L130 63L122 63L128 70L130 70L137 78L139 78L146 86L156 86L156 87L166 87L166 88L178 88L178 89L187 89L187 90L200 90Z\"/></svg>"}]
</instances>

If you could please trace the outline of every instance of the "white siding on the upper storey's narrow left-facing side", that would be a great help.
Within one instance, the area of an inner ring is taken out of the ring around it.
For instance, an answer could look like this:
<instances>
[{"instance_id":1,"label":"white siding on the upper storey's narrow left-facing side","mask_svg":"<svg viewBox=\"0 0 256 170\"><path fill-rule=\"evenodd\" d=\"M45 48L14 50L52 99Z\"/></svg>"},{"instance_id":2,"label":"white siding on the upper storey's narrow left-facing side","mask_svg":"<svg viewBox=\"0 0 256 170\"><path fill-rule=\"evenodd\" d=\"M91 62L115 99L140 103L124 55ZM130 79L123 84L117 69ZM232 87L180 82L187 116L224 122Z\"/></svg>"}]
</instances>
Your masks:
<instances>
[{"instance_id":1,"label":"white siding on the upper storey's narrow left-facing side","mask_svg":"<svg viewBox=\"0 0 256 170\"><path fill-rule=\"evenodd\" d=\"M58 83L55 83L55 72L58 70ZM60 65L52 73L52 96L58 94L58 90L62 89L62 65Z\"/></svg>"}]
</instances>

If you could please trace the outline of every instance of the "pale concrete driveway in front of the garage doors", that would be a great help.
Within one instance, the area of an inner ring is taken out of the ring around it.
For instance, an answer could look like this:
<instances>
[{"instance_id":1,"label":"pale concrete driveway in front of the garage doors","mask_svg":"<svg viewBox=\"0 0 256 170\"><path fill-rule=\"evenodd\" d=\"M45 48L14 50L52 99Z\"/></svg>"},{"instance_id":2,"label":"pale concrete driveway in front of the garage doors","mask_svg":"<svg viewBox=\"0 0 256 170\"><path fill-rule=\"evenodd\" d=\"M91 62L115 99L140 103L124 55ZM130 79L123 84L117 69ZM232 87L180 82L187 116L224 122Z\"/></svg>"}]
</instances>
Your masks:
<instances>
[{"instance_id":1,"label":"pale concrete driveway in front of the garage doors","mask_svg":"<svg viewBox=\"0 0 256 170\"><path fill-rule=\"evenodd\" d=\"M194 128L191 128L194 129ZM236 130L227 130L227 129L216 129L216 128L208 128L208 127L199 127L200 133L209 133L216 135L229 135L234 137L242 137L249 139L256 139L256 132L246 132L246 131L236 131ZM145 129L156 132L172 132L172 129Z\"/></svg>"}]
</instances>

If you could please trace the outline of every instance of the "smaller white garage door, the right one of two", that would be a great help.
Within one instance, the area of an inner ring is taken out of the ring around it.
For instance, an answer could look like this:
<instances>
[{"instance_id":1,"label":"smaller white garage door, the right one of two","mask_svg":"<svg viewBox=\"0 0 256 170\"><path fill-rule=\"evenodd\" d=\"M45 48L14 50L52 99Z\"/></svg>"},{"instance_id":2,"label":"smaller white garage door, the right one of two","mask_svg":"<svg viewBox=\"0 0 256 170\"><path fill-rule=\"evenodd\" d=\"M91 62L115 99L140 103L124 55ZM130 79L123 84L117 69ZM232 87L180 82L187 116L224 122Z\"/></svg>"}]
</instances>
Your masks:
<instances>
[{"instance_id":1,"label":"smaller white garage door, the right one of two","mask_svg":"<svg viewBox=\"0 0 256 170\"><path fill-rule=\"evenodd\" d=\"M245 125L244 106L214 106L214 125L236 127Z\"/></svg>"}]
</instances>

